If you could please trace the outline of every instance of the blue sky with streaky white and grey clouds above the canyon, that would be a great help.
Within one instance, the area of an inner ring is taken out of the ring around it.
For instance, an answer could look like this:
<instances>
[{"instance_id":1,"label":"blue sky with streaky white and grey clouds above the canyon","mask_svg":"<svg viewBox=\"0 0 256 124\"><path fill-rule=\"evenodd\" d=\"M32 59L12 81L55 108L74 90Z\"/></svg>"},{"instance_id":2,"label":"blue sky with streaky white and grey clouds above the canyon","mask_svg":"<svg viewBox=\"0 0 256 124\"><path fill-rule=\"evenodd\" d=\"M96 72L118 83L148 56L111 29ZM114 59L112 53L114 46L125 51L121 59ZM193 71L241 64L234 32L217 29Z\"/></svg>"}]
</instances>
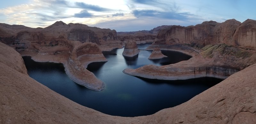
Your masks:
<instances>
[{"instance_id":1,"label":"blue sky with streaky white and grey clouds above the canyon","mask_svg":"<svg viewBox=\"0 0 256 124\"><path fill-rule=\"evenodd\" d=\"M1 0L0 23L46 27L56 21L120 31L256 20L255 0Z\"/></svg>"}]
</instances>

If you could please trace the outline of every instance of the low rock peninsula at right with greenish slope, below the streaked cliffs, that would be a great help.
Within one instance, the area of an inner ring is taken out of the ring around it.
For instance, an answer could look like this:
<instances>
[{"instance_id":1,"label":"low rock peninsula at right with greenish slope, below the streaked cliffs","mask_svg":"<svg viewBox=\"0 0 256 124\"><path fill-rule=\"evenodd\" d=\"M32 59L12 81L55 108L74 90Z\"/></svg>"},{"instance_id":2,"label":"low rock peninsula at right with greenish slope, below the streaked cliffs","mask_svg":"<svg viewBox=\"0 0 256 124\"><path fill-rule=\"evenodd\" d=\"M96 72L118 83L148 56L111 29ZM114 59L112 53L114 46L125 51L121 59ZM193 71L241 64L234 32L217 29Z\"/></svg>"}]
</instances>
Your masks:
<instances>
[{"instance_id":1,"label":"low rock peninsula at right with greenish slope, below the streaked cliffs","mask_svg":"<svg viewBox=\"0 0 256 124\"><path fill-rule=\"evenodd\" d=\"M256 51L230 47L224 44L209 45L204 51L187 61L165 66L147 65L138 69L124 69L132 76L151 79L178 80L198 77L226 79L230 75L256 63Z\"/></svg>"}]
</instances>

